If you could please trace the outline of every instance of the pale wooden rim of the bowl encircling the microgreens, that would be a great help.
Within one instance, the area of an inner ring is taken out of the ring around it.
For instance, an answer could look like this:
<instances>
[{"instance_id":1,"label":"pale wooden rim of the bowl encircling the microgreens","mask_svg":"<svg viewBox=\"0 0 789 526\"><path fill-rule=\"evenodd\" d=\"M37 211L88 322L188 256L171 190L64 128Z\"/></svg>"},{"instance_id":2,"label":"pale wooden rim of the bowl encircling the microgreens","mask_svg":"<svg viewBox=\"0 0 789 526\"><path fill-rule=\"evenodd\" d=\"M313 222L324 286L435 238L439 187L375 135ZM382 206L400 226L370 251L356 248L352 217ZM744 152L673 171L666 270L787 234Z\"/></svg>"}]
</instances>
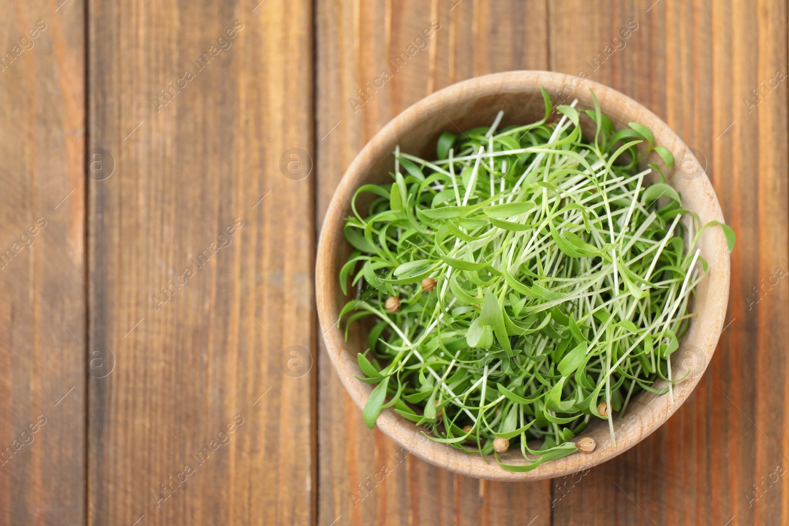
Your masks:
<instances>
[{"instance_id":1,"label":"pale wooden rim of the bowl encircling the microgreens","mask_svg":"<svg viewBox=\"0 0 789 526\"><path fill-rule=\"evenodd\" d=\"M600 100L601 109L605 114L611 114L611 110L607 110L607 105L610 105L612 101L618 100L619 103L623 103L626 107L626 111L623 114L627 114L631 109L634 109L638 113L638 121L655 132L656 144L668 147L672 152L681 151L683 148L686 151L690 151L679 136L652 111L645 108L645 106L641 106L634 99L630 99L630 97L604 84L578 76L549 71L521 70L491 73L463 80L436 91L409 106L389 121L353 159L348 170L342 176L342 180L339 182L331 202L344 203L350 201L350 195L355 192L365 178L365 167L372 162L372 159L379 159L382 154L391 154L390 151L383 151L383 147L390 136L392 134L396 135L399 129L406 128L413 122L424 121L425 115L434 115L436 112L443 113L443 108L454 106L458 102L469 99L479 99L487 95L496 95L503 92L525 93L533 91L540 86L548 89L549 93L558 94L559 89L567 88L568 85L573 86L574 90L581 86L584 89L591 88L597 99ZM580 98L581 96L579 95ZM679 182L699 196L698 199L701 200L700 203L704 207L703 222L710 220L724 222L720 203L718 203L715 190L712 188L706 173L701 173L700 177L692 181ZM354 378L354 375L361 375L361 370L358 367L355 356L350 356L350 353L346 352L346 343L337 318L338 308L335 306L335 297L333 297L339 286L337 276L331 272L331 254L334 252L338 242L344 241L344 237L342 237L343 215L344 212L341 207L330 205L323 219L316 252L316 307L323 334L322 338L331 362L334 364L342 384L348 390L353 401L356 402L359 408L364 408L367 397L372 391L372 386ZM342 241L338 241L338 233ZM701 374L694 375L681 383L675 384L673 402L667 394L653 397L647 403L645 403L643 397L639 397L638 401L634 398L630 405L632 414L637 415L638 419L634 423L631 422L629 426L621 421L615 424L615 427L618 427L617 433L619 434L616 446L611 445L610 439L604 443L600 443L600 440L598 440L597 447L593 453L574 453L554 461L547 461L529 472L509 472L500 468L492 457L483 459L480 455L464 453L446 444L433 442L421 435L413 422L398 416L392 408L384 409L381 412L378 420L376 420L377 427L398 446L406 448L410 453L431 464L446 468L451 472L489 480L524 481L566 476L592 468L629 450L665 423L679 406L686 401L701 379L703 372L712 359L712 354L715 352L727 311L730 260L726 240L721 229L707 229L703 237L705 237L706 248L709 248L709 250L705 250L705 255L708 256L708 263L710 263L710 271L705 276L705 280L709 280L706 285L705 308L698 311L697 319L691 325L691 330L682 340L683 345L690 341L689 345L700 349L701 353L703 353L701 356L703 359ZM710 254L715 257L709 258ZM520 453L518 453L518 457L520 457ZM507 462L513 460L507 459ZM518 461L513 463L518 464Z\"/></svg>"}]
</instances>

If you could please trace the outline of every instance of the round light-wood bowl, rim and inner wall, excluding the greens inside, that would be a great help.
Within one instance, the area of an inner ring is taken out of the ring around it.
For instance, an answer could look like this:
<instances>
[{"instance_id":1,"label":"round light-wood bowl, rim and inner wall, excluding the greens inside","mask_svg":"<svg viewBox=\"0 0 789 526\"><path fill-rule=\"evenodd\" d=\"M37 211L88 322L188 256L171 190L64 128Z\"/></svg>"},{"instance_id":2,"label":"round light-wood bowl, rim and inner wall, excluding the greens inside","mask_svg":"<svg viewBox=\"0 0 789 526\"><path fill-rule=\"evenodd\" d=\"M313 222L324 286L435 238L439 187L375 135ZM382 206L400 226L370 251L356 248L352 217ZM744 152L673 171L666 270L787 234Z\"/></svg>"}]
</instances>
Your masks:
<instances>
[{"instance_id":1,"label":"round light-wood bowl, rim and inner wall, excluding the greens inside","mask_svg":"<svg viewBox=\"0 0 789 526\"><path fill-rule=\"evenodd\" d=\"M544 115L540 86L548 90L555 104L569 104L577 98L579 109L594 107L589 92L589 88L592 88L604 114L611 118L616 129L627 128L630 121L648 126L654 132L656 144L675 154L675 167L673 171L668 170L670 173L666 173L666 176L682 194L683 207L696 212L702 224L713 220L724 222L715 191L689 148L664 121L619 91L576 76L547 71L494 73L436 91L395 117L357 155L342 177L323 221L316 261L318 315L322 331L325 331L323 338L331 361L360 408L365 406L372 390L372 386L354 378L354 375L362 375L356 356L367 347L366 335L359 334L359 324L354 323L346 341L343 338L344 323L337 323L340 309L348 300L342 295L338 273L351 250L342 235L342 226L346 217L343 210L350 211L353 192L365 183L391 181L387 173L393 162L392 152L398 144L402 151L432 159L441 132L458 133L459 130L474 126L490 125L499 110L504 110L501 126L539 120ZM697 285L693 310L698 315L682 339L680 349L671 355L675 360L672 364L682 367L677 370L686 371L693 367L692 372L685 380L675 384L673 402L668 394L656 396L642 393L634 397L623 418L615 416L615 446L611 444L608 423L595 420L582 434L596 441L593 453L573 453L540 464L533 471L514 473L499 468L492 457L485 461L479 455L463 453L451 446L433 442L421 435L413 422L398 416L391 408L381 412L377 420L378 427L398 445L425 461L452 472L491 480L516 481L565 476L591 468L630 449L655 431L690 396L712 358L723 328L729 291L729 254L722 229L712 227L705 230L697 246L701 249L701 256L709 263L709 272ZM665 385L665 382L656 382L657 388ZM510 451L499 457L507 464L524 463L519 451Z\"/></svg>"}]
</instances>

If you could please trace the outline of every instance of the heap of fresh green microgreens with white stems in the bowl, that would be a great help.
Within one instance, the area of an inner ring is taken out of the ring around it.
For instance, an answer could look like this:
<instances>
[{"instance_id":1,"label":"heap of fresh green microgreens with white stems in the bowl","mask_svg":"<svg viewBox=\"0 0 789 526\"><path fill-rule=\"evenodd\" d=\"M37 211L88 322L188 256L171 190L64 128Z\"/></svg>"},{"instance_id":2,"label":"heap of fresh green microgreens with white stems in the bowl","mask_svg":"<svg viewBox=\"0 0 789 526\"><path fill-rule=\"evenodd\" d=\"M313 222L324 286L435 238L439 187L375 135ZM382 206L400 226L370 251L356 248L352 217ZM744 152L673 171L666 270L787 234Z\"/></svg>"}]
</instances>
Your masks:
<instances>
[{"instance_id":1,"label":"heap of fresh green microgreens with white stems in the bowl","mask_svg":"<svg viewBox=\"0 0 789 526\"><path fill-rule=\"evenodd\" d=\"M612 412L641 391L671 393L683 377L669 357L706 271L694 246L720 225L700 227L659 166L640 169L651 151L673 163L644 125L615 131L594 98L585 140L577 101L550 123L543 96L533 124L499 130L499 112L489 127L444 132L438 160L398 148L391 185L353 196L355 250L339 276L344 293L357 287L340 318L376 319L358 355L361 381L377 384L367 425L394 406L464 451L499 453L519 438L527 463L499 462L510 471L574 453L570 438L592 418L608 420L615 444Z\"/></svg>"}]
</instances>

